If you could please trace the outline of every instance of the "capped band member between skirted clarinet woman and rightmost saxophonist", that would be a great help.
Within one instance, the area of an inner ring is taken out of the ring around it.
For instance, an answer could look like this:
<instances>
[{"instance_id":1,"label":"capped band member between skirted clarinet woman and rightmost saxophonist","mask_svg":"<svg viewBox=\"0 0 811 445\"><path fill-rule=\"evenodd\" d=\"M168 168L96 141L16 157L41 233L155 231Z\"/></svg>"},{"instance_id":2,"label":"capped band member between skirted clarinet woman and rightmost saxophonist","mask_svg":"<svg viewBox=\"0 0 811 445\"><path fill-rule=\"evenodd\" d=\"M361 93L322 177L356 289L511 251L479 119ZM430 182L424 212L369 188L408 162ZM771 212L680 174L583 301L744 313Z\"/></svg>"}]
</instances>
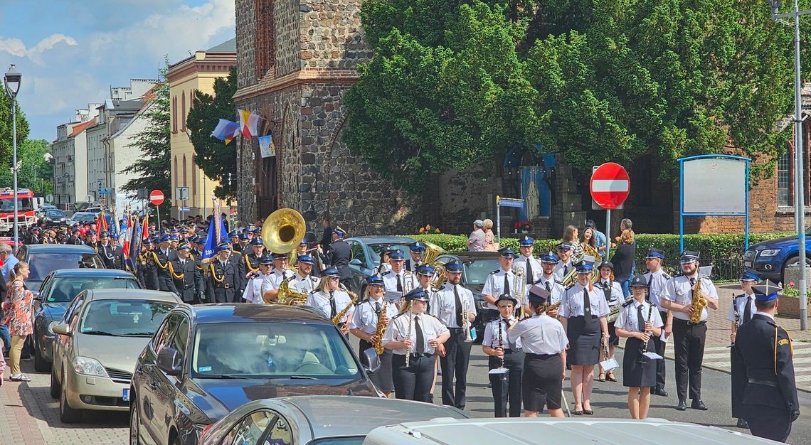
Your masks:
<instances>
[{"instance_id":1,"label":"capped band member between skirted clarinet woman and rightmost saxophonist","mask_svg":"<svg viewBox=\"0 0 811 445\"><path fill-rule=\"evenodd\" d=\"M663 306L663 294L667 280L670 276L662 269L664 261L664 252L662 250L651 247L648 249L648 255L645 257L645 267L648 272L645 274L645 280L648 284L648 300L656 306L659 310L659 317L664 322L664 336L667 339L673 332L673 313ZM664 349L667 341L662 340L659 336L653 338L654 348L656 353L664 357ZM656 361L656 386L650 388L650 394L654 396L667 397L667 391L664 390L665 383L665 366L664 360Z\"/></svg>"}]
</instances>

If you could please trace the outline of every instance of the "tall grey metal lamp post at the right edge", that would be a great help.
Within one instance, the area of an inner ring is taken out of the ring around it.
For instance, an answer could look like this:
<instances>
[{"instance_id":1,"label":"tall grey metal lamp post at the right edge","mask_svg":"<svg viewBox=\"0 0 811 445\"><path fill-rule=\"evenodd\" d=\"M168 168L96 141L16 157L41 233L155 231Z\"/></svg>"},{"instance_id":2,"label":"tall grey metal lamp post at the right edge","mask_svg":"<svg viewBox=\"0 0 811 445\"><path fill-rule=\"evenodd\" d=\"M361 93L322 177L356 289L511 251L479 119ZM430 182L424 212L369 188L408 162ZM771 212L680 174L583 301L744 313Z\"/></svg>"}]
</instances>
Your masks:
<instances>
[{"instance_id":1,"label":"tall grey metal lamp post at the right edge","mask_svg":"<svg viewBox=\"0 0 811 445\"><path fill-rule=\"evenodd\" d=\"M805 173L803 172L803 104L802 78L800 76L800 15L811 14L811 11L800 11L798 0L794 0L794 11L780 13L780 0L769 0L772 18L776 22L794 27L794 219L797 230L797 241L800 242L800 330L808 329L808 288L805 283ZM787 18L794 19L789 23Z\"/></svg>"}]
</instances>

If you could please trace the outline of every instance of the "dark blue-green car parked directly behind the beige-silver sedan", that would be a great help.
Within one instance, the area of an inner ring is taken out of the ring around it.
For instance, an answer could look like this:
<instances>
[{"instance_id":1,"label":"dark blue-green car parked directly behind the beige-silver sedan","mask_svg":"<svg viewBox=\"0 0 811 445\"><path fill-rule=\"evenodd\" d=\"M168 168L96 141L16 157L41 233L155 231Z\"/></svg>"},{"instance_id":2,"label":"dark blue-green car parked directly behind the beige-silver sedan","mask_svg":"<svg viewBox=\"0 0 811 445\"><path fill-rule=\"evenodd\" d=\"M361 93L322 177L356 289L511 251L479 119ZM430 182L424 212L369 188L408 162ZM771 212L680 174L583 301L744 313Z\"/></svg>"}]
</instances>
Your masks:
<instances>
[{"instance_id":1,"label":"dark blue-green car parked directly behind the beige-silver sedan","mask_svg":"<svg viewBox=\"0 0 811 445\"><path fill-rule=\"evenodd\" d=\"M130 272L116 269L60 269L50 272L42 281L39 295L34 298L34 369L50 369L54 357L54 332L50 324L61 320L67 306L79 292L87 289L141 289Z\"/></svg>"}]
</instances>

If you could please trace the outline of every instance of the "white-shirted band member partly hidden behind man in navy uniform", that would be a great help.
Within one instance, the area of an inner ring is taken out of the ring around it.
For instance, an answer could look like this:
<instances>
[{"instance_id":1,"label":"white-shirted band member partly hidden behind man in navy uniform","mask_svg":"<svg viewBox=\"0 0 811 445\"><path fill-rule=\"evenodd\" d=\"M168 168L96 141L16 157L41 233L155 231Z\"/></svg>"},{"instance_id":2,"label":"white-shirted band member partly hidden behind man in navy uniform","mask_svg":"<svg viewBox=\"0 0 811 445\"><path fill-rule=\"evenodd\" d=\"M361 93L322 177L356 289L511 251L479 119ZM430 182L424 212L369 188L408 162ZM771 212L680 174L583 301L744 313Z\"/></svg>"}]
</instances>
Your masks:
<instances>
[{"instance_id":1,"label":"white-shirted band member partly hidden behind man in navy uniform","mask_svg":"<svg viewBox=\"0 0 811 445\"><path fill-rule=\"evenodd\" d=\"M755 293L752 289L760 281L760 277L753 271L744 271L740 274L740 289L744 291L740 295L732 298L732 306L729 308L729 315L727 319L732 322L732 331L729 334L729 340L732 344L730 348L730 374L732 374L732 417L738 419L738 428L749 428L744 417L743 400L744 388L746 387L746 379L743 379L744 372L741 369L740 360L736 351L735 336L738 328L743 326L744 323L752 320L756 310L754 307Z\"/></svg>"}]
</instances>

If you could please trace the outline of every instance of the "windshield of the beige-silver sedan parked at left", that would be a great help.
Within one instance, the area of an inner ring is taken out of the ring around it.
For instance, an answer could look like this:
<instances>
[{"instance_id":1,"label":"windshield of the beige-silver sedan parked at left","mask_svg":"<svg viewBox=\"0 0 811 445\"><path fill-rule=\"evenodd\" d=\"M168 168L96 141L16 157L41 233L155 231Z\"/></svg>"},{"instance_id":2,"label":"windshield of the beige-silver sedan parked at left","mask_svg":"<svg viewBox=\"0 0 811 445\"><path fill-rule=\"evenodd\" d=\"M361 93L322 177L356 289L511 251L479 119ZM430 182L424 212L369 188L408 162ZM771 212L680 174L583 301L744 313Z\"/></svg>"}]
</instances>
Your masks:
<instances>
[{"instance_id":1,"label":"windshield of the beige-silver sedan parked at left","mask_svg":"<svg viewBox=\"0 0 811 445\"><path fill-rule=\"evenodd\" d=\"M90 302L79 321L88 335L152 336L174 303L155 300L109 299Z\"/></svg>"}]
</instances>

